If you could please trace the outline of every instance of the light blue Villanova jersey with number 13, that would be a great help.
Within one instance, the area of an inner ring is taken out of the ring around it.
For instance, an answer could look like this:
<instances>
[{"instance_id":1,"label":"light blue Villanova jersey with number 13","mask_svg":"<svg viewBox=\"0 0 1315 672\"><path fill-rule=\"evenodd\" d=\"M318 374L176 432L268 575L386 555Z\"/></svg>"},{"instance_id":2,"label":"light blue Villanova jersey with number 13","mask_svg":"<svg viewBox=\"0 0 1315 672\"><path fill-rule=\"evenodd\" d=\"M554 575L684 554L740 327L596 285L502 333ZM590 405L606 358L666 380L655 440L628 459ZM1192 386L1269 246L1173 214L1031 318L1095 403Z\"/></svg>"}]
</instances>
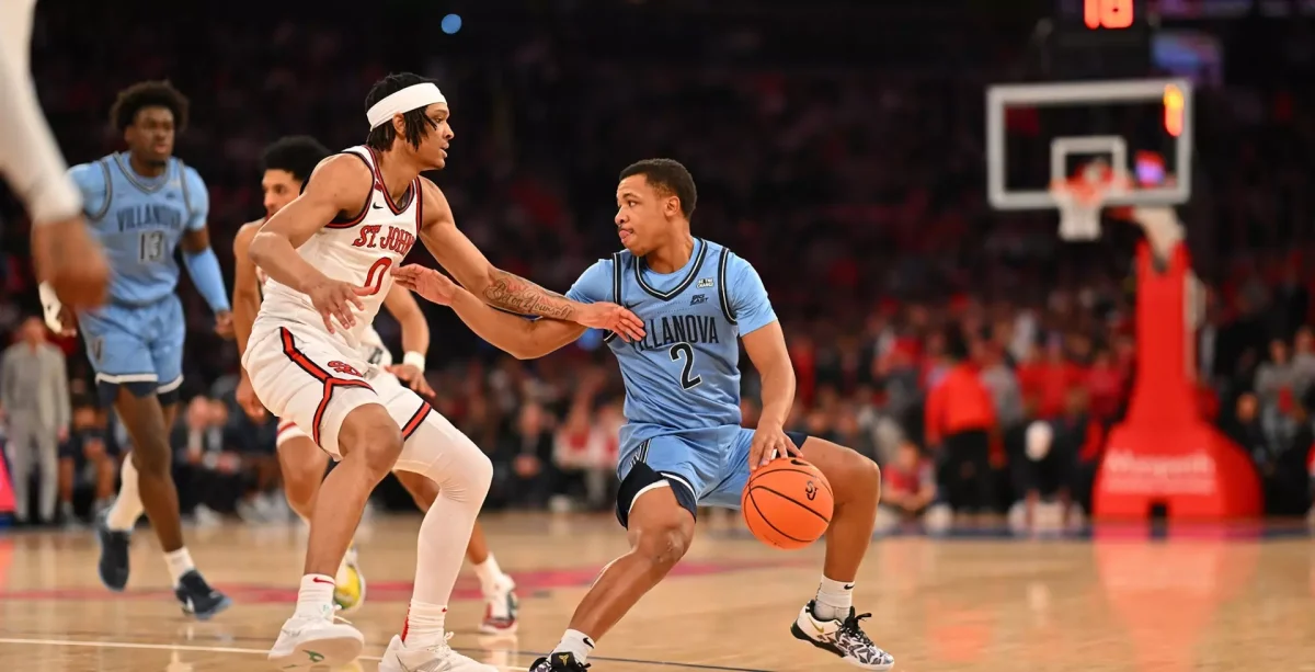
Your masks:
<instances>
[{"instance_id":1,"label":"light blue Villanova jersey with number 13","mask_svg":"<svg viewBox=\"0 0 1315 672\"><path fill-rule=\"evenodd\" d=\"M83 195L87 224L109 258L109 299L149 305L174 293L174 251L185 231L205 226L209 193L196 170L171 158L159 178L143 178L128 154L74 166L68 175Z\"/></svg>"}]
</instances>

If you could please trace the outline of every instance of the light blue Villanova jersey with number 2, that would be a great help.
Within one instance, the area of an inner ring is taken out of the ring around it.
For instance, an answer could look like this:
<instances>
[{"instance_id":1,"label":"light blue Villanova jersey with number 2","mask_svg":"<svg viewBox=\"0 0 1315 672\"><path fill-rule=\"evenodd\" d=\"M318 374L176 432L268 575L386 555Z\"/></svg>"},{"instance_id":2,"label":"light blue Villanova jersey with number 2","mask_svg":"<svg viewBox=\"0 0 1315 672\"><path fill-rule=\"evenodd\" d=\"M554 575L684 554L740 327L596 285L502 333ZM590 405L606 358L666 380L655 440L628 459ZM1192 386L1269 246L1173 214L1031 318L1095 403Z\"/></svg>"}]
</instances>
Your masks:
<instances>
[{"instance_id":1,"label":"light blue Villanova jersey with number 2","mask_svg":"<svg viewBox=\"0 0 1315 672\"><path fill-rule=\"evenodd\" d=\"M640 342L605 337L626 384L623 447L740 423L739 338L776 321L748 262L696 238L684 268L655 274L621 251L590 266L567 297L615 302L644 322Z\"/></svg>"}]
</instances>

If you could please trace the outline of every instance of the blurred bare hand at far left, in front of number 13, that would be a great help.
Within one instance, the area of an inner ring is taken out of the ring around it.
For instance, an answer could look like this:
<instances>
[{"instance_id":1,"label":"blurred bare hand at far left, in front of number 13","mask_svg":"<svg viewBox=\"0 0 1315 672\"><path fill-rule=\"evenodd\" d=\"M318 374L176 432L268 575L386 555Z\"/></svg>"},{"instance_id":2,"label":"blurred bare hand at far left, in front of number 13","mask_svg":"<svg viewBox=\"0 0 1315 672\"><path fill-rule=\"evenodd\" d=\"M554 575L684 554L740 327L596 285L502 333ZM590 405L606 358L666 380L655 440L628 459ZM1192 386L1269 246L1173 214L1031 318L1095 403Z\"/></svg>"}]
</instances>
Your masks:
<instances>
[{"instance_id":1,"label":"blurred bare hand at far left, in front of number 13","mask_svg":"<svg viewBox=\"0 0 1315 672\"><path fill-rule=\"evenodd\" d=\"M59 301L79 310L105 302L109 263L82 216L32 228L37 277L49 281Z\"/></svg>"}]
</instances>

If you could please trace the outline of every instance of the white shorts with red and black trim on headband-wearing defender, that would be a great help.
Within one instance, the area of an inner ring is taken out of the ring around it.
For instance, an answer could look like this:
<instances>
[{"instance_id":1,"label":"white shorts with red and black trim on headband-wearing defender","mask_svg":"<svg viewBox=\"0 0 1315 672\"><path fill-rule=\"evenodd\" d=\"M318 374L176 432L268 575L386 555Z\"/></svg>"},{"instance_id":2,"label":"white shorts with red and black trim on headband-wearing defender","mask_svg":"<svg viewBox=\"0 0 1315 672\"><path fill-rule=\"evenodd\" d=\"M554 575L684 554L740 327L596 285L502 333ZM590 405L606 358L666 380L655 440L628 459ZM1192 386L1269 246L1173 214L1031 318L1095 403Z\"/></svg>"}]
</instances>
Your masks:
<instances>
[{"instance_id":1,"label":"white shorts with red and black trim on headband-wearing defender","mask_svg":"<svg viewBox=\"0 0 1315 672\"><path fill-rule=\"evenodd\" d=\"M277 443L309 435L333 456L338 430L347 414L366 404L380 404L410 438L430 414L430 405L396 376L371 371L346 343L313 327L288 324L252 334L242 358L251 388L279 418Z\"/></svg>"}]
</instances>

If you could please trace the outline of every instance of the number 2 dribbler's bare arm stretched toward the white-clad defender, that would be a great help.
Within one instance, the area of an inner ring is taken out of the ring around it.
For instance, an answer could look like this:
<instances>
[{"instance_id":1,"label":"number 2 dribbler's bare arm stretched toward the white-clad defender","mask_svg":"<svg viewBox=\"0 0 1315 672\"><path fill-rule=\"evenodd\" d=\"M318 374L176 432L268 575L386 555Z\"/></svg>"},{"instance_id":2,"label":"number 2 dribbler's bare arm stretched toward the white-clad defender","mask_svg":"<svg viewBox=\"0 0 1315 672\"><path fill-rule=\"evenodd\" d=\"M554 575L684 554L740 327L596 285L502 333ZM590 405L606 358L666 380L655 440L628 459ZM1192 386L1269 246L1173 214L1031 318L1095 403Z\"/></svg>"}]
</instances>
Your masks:
<instances>
[{"instance_id":1,"label":"number 2 dribbler's bare arm stretched toward the white-clad defender","mask_svg":"<svg viewBox=\"0 0 1315 672\"><path fill-rule=\"evenodd\" d=\"M450 305L456 316L494 347L517 359L535 359L552 352L584 334L584 326L560 320L526 320L490 308L458 287L446 275L421 266L404 266L393 276L397 284L429 301Z\"/></svg>"}]
</instances>

